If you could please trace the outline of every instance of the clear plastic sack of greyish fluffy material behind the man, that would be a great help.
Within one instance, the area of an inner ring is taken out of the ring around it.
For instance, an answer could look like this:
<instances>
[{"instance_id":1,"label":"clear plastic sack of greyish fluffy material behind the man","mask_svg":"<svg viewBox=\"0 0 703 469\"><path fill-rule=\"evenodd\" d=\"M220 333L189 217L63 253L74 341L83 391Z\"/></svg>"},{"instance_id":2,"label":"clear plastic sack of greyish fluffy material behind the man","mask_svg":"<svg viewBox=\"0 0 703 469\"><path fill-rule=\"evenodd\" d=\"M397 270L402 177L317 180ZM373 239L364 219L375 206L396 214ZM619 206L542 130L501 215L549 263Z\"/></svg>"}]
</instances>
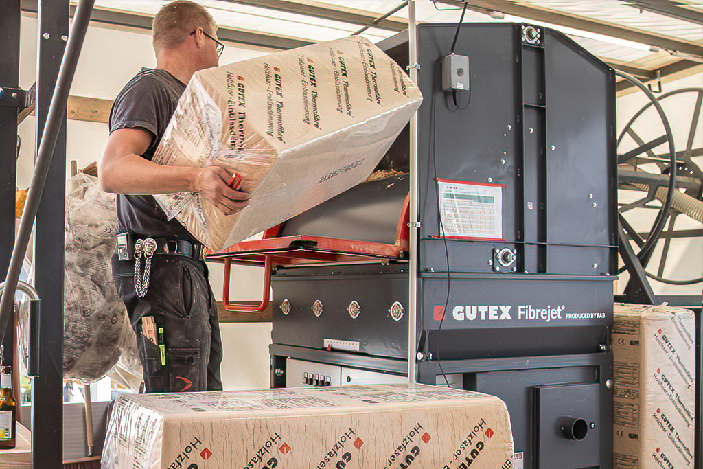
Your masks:
<instances>
[{"instance_id":1,"label":"clear plastic sack of greyish fluffy material behind the man","mask_svg":"<svg viewBox=\"0 0 703 469\"><path fill-rule=\"evenodd\" d=\"M90 383L103 378L123 348L133 355L134 333L112 281L115 195L98 179L77 174L66 198L63 373ZM125 358L126 359L126 358Z\"/></svg>"}]
</instances>

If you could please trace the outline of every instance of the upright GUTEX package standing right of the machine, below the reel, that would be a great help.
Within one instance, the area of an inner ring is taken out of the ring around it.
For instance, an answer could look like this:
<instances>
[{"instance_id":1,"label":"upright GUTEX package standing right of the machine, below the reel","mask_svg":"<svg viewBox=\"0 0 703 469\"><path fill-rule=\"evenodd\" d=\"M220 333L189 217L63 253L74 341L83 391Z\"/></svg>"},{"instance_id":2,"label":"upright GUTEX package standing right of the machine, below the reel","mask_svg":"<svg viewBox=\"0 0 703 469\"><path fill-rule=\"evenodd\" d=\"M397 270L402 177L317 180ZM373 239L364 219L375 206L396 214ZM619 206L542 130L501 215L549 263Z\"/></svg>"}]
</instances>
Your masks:
<instances>
[{"instance_id":1,"label":"upright GUTEX package standing right of the machine, below the reel","mask_svg":"<svg viewBox=\"0 0 703 469\"><path fill-rule=\"evenodd\" d=\"M614 469L692 468L692 311L615 304L612 345Z\"/></svg>"}]
</instances>

